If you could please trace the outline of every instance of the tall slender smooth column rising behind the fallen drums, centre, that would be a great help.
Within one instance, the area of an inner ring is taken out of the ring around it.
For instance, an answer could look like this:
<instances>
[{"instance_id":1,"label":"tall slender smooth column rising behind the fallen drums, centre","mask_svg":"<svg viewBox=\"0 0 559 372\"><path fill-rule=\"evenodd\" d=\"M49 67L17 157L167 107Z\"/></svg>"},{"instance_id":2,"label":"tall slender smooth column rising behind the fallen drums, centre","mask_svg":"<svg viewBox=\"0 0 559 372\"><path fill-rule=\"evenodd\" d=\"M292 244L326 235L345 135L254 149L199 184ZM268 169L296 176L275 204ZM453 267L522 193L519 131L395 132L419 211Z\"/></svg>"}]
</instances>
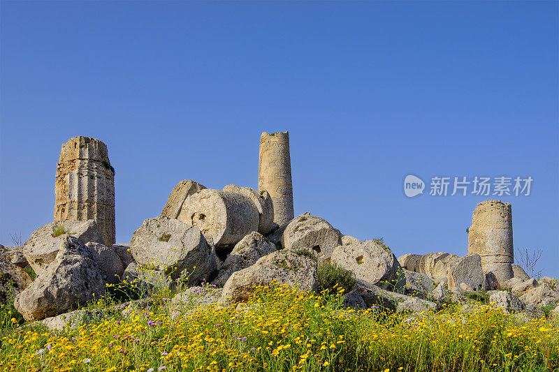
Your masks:
<instances>
[{"instance_id":1,"label":"tall slender smooth column rising behind the fallen drums, centre","mask_svg":"<svg viewBox=\"0 0 559 372\"><path fill-rule=\"evenodd\" d=\"M258 188L272 197L274 222L279 226L289 223L293 219L289 132L263 132L260 136Z\"/></svg>"}]
</instances>

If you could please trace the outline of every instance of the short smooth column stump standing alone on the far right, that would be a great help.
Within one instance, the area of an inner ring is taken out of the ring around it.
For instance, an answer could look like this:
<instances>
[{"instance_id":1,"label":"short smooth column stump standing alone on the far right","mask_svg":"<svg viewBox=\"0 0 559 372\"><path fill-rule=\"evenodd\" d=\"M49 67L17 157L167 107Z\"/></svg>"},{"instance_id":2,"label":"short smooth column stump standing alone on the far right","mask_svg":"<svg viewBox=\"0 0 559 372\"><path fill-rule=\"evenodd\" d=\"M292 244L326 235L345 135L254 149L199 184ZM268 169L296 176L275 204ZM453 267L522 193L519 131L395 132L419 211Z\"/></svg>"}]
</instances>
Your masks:
<instances>
[{"instance_id":1,"label":"short smooth column stump standing alone on the far right","mask_svg":"<svg viewBox=\"0 0 559 372\"><path fill-rule=\"evenodd\" d=\"M480 255L484 273L493 272L501 284L514 276L511 204L500 200L477 204L468 230L467 253Z\"/></svg>"}]
</instances>

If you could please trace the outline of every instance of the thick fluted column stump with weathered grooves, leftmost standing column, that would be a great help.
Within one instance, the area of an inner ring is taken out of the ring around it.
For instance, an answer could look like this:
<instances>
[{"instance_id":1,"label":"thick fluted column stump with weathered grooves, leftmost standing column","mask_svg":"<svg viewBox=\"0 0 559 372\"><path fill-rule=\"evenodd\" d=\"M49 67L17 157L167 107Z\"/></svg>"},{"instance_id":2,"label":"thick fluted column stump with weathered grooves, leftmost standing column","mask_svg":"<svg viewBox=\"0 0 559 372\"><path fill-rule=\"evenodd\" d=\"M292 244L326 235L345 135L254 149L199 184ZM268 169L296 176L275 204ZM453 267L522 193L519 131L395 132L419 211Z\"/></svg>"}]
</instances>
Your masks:
<instances>
[{"instance_id":1,"label":"thick fluted column stump with weathered grooves, leftmost standing column","mask_svg":"<svg viewBox=\"0 0 559 372\"><path fill-rule=\"evenodd\" d=\"M55 221L94 220L106 246L115 244L115 169L107 145L73 137L62 144L55 181Z\"/></svg>"}]
</instances>

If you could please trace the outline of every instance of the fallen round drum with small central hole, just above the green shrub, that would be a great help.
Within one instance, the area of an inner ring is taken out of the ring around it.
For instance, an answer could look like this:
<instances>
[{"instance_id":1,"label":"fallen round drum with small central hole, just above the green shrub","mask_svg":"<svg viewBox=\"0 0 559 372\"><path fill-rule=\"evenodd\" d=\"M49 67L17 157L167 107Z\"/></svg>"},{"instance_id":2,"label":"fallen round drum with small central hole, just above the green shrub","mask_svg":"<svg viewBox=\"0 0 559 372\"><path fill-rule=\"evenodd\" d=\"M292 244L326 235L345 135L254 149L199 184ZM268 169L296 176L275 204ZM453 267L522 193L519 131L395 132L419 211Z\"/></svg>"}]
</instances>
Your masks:
<instances>
[{"instance_id":1,"label":"fallen round drum with small central hole, just above the green shrub","mask_svg":"<svg viewBox=\"0 0 559 372\"><path fill-rule=\"evenodd\" d=\"M337 246L331 263L352 271L355 278L385 290L403 290L406 278L390 248L379 240Z\"/></svg>"}]
</instances>

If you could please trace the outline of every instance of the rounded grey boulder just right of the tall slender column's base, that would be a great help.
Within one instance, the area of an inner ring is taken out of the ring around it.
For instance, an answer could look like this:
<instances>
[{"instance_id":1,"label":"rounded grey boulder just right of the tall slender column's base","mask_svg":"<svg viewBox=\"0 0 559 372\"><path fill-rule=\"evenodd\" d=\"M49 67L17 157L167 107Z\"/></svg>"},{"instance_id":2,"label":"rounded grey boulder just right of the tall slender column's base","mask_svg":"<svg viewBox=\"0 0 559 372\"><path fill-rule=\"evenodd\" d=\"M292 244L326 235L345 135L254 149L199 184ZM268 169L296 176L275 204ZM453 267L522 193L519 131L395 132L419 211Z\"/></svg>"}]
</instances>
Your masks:
<instances>
[{"instance_id":1,"label":"rounded grey boulder just right of the tall slender column's base","mask_svg":"<svg viewBox=\"0 0 559 372\"><path fill-rule=\"evenodd\" d=\"M342 234L330 223L309 212L293 218L282 235L282 246L287 249L312 248L320 260L328 260L335 247L342 245Z\"/></svg>"}]
</instances>

